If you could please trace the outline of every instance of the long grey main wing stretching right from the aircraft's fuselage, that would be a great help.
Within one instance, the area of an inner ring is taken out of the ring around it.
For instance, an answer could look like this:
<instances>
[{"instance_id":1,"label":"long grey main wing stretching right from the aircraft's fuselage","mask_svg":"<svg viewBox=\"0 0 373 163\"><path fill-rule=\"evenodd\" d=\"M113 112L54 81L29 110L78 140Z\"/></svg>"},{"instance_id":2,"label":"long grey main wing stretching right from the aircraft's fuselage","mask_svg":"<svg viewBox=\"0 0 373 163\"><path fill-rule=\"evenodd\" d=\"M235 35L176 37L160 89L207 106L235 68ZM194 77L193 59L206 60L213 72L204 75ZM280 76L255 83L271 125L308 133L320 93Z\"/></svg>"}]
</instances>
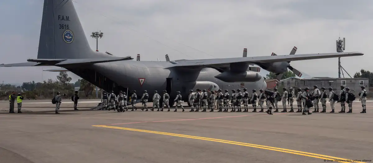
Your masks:
<instances>
[{"instance_id":1,"label":"long grey main wing stretching right from the aircraft's fuselage","mask_svg":"<svg viewBox=\"0 0 373 163\"><path fill-rule=\"evenodd\" d=\"M274 63L285 61L314 60L322 58L351 57L364 55L361 52L341 52L341 53L319 53L319 54L297 54L297 55L274 55L260 57L238 57L238 58L213 58L203 60L175 60L170 67L210 67L228 68L234 63Z\"/></svg>"}]
</instances>

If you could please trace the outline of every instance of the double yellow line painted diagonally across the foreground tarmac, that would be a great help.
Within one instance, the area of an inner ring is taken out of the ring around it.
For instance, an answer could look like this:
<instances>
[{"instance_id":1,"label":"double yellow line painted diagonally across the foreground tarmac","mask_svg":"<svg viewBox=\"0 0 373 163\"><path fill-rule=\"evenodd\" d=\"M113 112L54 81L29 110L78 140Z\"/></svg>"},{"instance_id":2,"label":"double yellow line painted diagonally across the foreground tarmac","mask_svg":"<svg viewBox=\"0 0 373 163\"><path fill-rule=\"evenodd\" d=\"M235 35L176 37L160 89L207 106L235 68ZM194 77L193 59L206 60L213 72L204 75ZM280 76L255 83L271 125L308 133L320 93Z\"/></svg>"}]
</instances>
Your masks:
<instances>
[{"instance_id":1,"label":"double yellow line painted diagonally across the foreground tarmac","mask_svg":"<svg viewBox=\"0 0 373 163\"><path fill-rule=\"evenodd\" d=\"M237 141L228 141L228 140L221 140L221 139L214 139L214 138L196 137L196 136L191 136L191 135L173 134L173 133L168 133L168 132L158 132L158 131L149 131L149 130L139 130L139 129L134 129L134 128L124 128L124 127L115 127L115 126L105 126L105 125L93 125L93 126L120 129L120 130L129 130L129 131L147 132L147 133L153 133L153 134L170 135L170 136L176 136L176 137L185 137L185 138L207 140L207 141L215 141L215 142L220 142L220 143L235 144L239 146L247 146L247 147L261 148L261 149L266 149L266 150L280 151L284 153L297 154L301 156L314 157L314 158L324 159L324 160L333 160L333 161L338 161L338 162L343 162L343 163L347 163L347 162L344 162L342 160L348 160L348 159L343 159L339 157L326 156L322 154L308 153L308 152L289 150L289 149L284 149L284 148L269 147L269 146L261 146L257 144L242 143L242 142L237 142ZM356 162L356 163L364 163L364 162Z\"/></svg>"}]
</instances>

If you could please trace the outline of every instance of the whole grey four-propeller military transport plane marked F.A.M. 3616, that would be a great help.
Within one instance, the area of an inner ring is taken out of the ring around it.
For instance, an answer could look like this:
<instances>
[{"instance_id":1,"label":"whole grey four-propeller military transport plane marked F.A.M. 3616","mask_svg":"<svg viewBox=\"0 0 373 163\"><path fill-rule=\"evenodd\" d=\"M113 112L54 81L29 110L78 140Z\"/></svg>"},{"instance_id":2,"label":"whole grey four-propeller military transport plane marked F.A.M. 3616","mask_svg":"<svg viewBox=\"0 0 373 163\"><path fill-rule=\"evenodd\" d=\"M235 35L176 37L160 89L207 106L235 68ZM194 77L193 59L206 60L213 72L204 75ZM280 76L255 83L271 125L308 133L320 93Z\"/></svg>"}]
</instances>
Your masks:
<instances>
[{"instance_id":1,"label":"whole grey four-propeller military transport plane marked F.A.M. 3616","mask_svg":"<svg viewBox=\"0 0 373 163\"><path fill-rule=\"evenodd\" d=\"M272 56L244 56L202 60L132 61L132 57L115 57L108 52L93 51L87 41L72 0L44 0L37 59L27 63L2 64L0 67L57 66L71 71L94 85L110 91L136 90L141 97L144 90L152 96L155 90L162 95L167 90L171 98L180 91L182 99L188 90L265 89L267 84L258 73L261 68L276 73L278 79L288 68L298 76L290 61L364 55L360 52L295 54ZM140 56L138 56L140 60ZM162 100L162 99L161 99ZM172 99L171 99L172 100Z\"/></svg>"}]
</instances>

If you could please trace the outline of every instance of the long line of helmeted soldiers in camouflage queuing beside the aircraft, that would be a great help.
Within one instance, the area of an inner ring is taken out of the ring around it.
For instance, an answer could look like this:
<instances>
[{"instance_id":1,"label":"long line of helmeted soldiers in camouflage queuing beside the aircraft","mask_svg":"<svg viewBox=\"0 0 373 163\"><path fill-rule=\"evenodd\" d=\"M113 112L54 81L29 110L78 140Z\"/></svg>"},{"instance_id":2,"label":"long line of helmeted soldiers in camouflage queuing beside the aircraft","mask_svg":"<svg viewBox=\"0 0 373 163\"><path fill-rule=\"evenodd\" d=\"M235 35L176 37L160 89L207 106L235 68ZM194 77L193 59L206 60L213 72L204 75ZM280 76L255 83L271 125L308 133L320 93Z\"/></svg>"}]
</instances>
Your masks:
<instances>
[{"instance_id":1,"label":"long line of helmeted soldiers in camouflage queuing beside the aircraft","mask_svg":"<svg viewBox=\"0 0 373 163\"><path fill-rule=\"evenodd\" d=\"M334 113L335 109L335 102L341 103L341 111L339 113L345 113L345 103L348 103L349 111L347 113L352 113L352 102L355 100L355 95L350 92L349 88L344 88L344 86L341 86L341 91L339 92L339 95L336 95L335 92L333 92L333 88L329 88L329 96L327 95L327 92L325 90L325 87L322 87L322 91L318 89L318 87L315 85L314 91L311 94L310 89L307 87L304 89L304 92L300 88L298 88L297 96L294 94L294 90L292 87L289 88L289 92L286 88L283 88L283 93L280 95L277 88L274 88L274 91L271 89L267 89L265 91L259 90L260 94L258 95L256 93L256 90L253 89L253 93L251 94L251 98L249 97L249 93L247 92L247 89L244 88L244 92L241 92L241 89L232 90L232 95L230 96L228 93L228 90L224 90L224 94L222 93L222 90L219 89L216 93L215 92L206 92L206 89L200 90L196 89L196 93L193 92L193 90L189 90L188 95L188 102L191 105L191 110L189 112L198 112L200 109L202 109L202 112L206 112L206 109L210 109L210 112L214 111L214 104L217 104L217 108L219 109L218 112L228 112L229 106L231 106L232 110L231 112L248 112L248 102L249 99L251 100L251 103L253 105L253 111L256 112L257 109L257 102L260 106L259 112L264 112L264 101L266 101L267 104L267 114L272 115L272 108L275 109L274 112L279 112L278 108L278 102L282 101L283 111L281 112L288 112L286 108L286 101L288 101L288 104L290 105L290 111L294 112L293 102L294 98L297 101L298 111L296 112L302 112L303 115L306 115L306 113L310 113L310 108L314 108L313 112L319 112L319 102L321 100L322 105L322 113L326 112L326 100L329 99L330 106L332 108L331 113ZM236 92L237 91L237 92ZM182 106L182 96L180 92L176 92L176 106L174 112L177 111L178 106L182 108L182 111L184 112L184 107ZM108 108L108 110L114 108L115 110L115 102L118 103L118 112L125 112L128 111L127 108L127 96L125 95L125 92L120 91L119 95L116 96L113 91L110 92L109 95L107 95L106 92L103 93L103 96L101 98L101 103L103 103L104 108ZM366 95L367 92L365 90L364 86L361 86L361 92L359 93L360 101L363 106L363 111L360 113L366 113ZM141 102L144 105L143 108L141 108L142 111L146 109L145 111L148 111L148 102L149 94L145 90L141 97ZM162 103L162 109L160 109L160 95L157 93L157 91L154 91L153 95L153 108L150 109L151 111L154 111L154 108L157 107L157 111L163 111L164 106L167 106L168 110L170 111L170 105L169 105L169 94L166 90L163 90L163 103ZM231 102L231 105L229 105L229 101ZM137 110L137 107L135 104L137 103L137 94L136 90L132 91L131 96L131 105L132 110ZM244 105L244 111L241 109L241 105ZM107 106L109 105L109 106ZM195 109L194 109L195 106ZM302 109L303 106L303 109ZM223 110L224 109L224 110ZM237 111L236 111L237 109Z\"/></svg>"}]
</instances>

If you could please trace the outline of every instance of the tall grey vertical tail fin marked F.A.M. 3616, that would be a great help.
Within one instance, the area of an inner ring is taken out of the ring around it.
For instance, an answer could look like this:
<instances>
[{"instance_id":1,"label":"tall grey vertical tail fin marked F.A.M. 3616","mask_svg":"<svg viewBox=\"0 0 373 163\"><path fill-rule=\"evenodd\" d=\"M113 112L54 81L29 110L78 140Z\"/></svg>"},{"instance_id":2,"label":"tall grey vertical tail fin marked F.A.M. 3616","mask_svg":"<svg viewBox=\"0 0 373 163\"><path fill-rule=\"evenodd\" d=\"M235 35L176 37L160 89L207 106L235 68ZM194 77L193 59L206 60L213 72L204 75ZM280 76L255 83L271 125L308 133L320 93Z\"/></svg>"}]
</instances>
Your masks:
<instances>
[{"instance_id":1,"label":"tall grey vertical tail fin marked F.A.M. 3616","mask_svg":"<svg viewBox=\"0 0 373 163\"><path fill-rule=\"evenodd\" d=\"M44 0L38 59L107 58L109 56L90 48L73 0Z\"/></svg>"}]
</instances>

